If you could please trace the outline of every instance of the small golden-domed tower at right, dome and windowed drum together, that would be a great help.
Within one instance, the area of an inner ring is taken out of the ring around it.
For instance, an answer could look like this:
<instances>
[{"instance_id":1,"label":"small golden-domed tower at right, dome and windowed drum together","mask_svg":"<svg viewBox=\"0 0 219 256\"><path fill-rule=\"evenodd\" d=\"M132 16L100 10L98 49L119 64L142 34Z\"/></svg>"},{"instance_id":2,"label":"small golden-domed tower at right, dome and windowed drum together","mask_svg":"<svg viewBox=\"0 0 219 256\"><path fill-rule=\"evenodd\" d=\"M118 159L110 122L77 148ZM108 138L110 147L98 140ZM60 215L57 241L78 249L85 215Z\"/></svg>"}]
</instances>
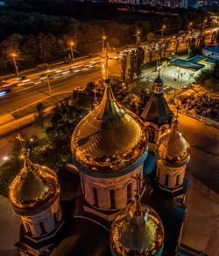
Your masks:
<instances>
[{"instance_id":1,"label":"small golden-domed tower at right, dome and windowed drum together","mask_svg":"<svg viewBox=\"0 0 219 256\"><path fill-rule=\"evenodd\" d=\"M157 157L156 179L159 187L169 194L183 194L190 147L180 133L177 119L173 123L173 128L169 128L159 138Z\"/></svg>"}]
</instances>

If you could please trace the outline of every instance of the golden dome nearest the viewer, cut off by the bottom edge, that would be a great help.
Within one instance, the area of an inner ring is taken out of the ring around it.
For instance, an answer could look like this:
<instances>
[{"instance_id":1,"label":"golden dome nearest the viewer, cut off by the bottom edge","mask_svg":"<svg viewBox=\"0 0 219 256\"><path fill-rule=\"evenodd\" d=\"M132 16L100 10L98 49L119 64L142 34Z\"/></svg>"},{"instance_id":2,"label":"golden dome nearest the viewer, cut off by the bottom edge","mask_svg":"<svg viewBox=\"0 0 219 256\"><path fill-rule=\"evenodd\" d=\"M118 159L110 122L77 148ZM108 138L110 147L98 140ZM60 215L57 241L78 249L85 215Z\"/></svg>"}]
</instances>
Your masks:
<instances>
[{"instance_id":1,"label":"golden dome nearest the viewer, cut off by the bottom edge","mask_svg":"<svg viewBox=\"0 0 219 256\"><path fill-rule=\"evenodd\" d=\"M135 202L118 214L111 224L110 244L117 256L157 255L162 251L164 228L156 211Z\"/></svg>"}]
</instances>

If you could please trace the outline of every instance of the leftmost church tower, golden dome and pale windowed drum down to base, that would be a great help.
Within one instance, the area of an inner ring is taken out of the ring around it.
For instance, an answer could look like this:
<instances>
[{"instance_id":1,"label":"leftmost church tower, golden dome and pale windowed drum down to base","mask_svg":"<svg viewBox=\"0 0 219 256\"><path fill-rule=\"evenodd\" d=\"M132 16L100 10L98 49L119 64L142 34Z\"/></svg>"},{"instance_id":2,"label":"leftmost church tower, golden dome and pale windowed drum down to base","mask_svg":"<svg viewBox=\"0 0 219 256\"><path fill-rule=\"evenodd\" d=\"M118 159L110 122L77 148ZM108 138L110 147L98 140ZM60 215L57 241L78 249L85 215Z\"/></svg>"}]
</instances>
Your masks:
<instances>
[{"instance_id":1,"label":"leftmost church tower, golden dome and pale windowed drum down to base","mask_svg":"<svg viewBox=\"0 0 219 256\"><path fill-rule=\"evenodd\" d=\"M44 165L33 164L24 148L21 158L24 166L9 191L14 211L22 221L16 246L20 255L39 255L50 252L63 224L60 185L56 174Z\"/></svg>"}]
</instances>

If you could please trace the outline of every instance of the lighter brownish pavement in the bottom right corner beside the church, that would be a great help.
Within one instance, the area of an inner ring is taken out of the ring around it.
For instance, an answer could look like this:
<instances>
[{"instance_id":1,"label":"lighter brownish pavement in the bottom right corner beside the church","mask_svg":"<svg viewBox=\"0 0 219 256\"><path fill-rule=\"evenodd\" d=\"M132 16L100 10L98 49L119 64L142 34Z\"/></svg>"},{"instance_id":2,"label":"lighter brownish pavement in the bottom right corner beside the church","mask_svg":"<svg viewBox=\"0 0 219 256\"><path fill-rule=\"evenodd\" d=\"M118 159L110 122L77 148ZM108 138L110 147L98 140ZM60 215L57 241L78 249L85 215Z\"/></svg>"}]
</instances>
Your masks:
<instances>
[{"instance_id":1,"label":"lighter brownish pavement in the bottom right corner beside the church","mask_svg":"<svg viewBox=\"0 0 219 256\"><path fill-rule=\"evenodd\" d=\"M187 216L182 243L208 256L219 255L219 195L188 175Z\"/></svg>"}]
</instances>

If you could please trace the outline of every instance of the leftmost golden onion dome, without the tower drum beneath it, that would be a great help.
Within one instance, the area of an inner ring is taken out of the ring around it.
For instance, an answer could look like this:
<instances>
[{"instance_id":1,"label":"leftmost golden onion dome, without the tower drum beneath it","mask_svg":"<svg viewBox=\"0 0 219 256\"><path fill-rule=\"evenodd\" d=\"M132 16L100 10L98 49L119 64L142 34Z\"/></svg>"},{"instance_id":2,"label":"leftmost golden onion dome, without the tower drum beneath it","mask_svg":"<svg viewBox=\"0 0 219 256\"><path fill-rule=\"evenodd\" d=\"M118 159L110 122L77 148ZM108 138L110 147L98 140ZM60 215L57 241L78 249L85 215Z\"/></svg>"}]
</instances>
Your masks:
<instances>
[{"instance_id":1,"label":"leftmost golden onion dome, without the tower drum beneath it","mask_svg":"<svg viewBox=\"0 0 219 256\"><path fill-rule=\"evenodd\" d=\"M60 194L56 174L48 167L32 164L25 157L25 164L12 181L9 197L14 207L28 209L42 205Z\"/></svg>"}]
</instances>

